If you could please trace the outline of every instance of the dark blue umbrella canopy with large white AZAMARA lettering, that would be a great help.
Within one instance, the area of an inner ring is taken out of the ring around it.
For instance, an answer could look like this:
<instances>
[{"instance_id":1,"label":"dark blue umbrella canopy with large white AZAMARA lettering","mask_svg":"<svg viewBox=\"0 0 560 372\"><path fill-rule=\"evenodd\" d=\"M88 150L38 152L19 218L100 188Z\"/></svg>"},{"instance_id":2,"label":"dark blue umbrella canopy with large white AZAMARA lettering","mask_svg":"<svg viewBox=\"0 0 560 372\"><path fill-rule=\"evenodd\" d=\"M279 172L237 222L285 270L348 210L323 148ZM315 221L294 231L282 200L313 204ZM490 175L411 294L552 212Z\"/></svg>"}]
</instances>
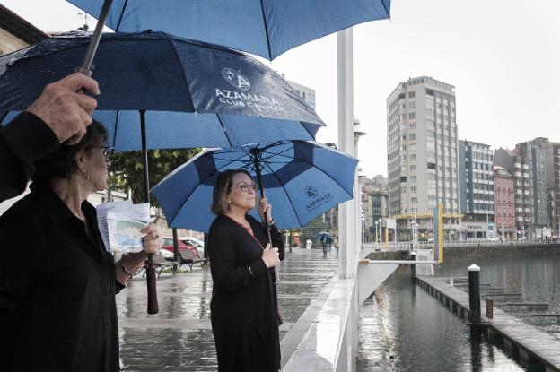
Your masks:
<instances>
[{"instance_id":1,"label":"dark blue umbrella canopy with large white AZAMARA lettering","mask_svg":"<svg viewBox=\"0 0 560 372\"><path fill-rule=\"evenodd\" d=\"M0 57L0 110L22 110L74 71L89 35L67 34ZM104 34L95 59L95 117L118 151L311 140L324 125L284 79L255 58L162 32ZM124 110L124 111L122 111ZM128 110L128 111L127 111Z\"/></svg>"}]
</instances>

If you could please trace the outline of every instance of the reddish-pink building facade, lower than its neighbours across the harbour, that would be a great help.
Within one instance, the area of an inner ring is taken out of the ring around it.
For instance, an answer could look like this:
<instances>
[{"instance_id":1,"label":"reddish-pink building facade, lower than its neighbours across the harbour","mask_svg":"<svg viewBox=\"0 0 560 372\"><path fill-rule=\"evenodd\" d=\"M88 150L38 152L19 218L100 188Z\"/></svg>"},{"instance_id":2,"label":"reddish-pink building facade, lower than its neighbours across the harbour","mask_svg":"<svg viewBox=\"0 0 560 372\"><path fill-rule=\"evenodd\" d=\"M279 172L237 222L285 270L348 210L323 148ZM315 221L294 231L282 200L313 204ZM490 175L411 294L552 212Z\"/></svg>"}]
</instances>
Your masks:
<instances>
[{"instance_id":1,"label":"reddish-pink building facade, lower than its neighbours across the harbour","mask_svg":"<svg viewBox=\"0 0 560 372\"><path fill-rule=\"evenodd\" d=\"M494 219L501 240L515 240L514 177L507 169L494 167Z\"/></svg>"}]
</instances>

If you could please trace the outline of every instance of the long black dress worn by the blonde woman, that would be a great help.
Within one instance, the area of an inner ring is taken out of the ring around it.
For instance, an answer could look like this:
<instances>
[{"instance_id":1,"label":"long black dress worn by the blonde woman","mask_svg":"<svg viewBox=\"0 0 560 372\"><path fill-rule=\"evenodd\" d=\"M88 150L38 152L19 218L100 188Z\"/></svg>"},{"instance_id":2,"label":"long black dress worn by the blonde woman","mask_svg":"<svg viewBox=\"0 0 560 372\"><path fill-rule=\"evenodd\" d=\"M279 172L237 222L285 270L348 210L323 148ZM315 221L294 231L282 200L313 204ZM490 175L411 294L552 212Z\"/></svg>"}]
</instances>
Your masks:
<instances>
[{"instance_id":1,"label":"long black dress worn by the blonde woman","mask_svg":"<svg viewBox=\"0 0 560 372\"><path fill-rule=\"evenodd\" d=\"M218 370L268 372L280 368L276 285L260 258L267 246L267 230L247 216L253 238L240 224L218 216L208 234L213 290L212 330ZM273 247L284 259L278 229L271 229Z\"/></svg>"}]
</instances>

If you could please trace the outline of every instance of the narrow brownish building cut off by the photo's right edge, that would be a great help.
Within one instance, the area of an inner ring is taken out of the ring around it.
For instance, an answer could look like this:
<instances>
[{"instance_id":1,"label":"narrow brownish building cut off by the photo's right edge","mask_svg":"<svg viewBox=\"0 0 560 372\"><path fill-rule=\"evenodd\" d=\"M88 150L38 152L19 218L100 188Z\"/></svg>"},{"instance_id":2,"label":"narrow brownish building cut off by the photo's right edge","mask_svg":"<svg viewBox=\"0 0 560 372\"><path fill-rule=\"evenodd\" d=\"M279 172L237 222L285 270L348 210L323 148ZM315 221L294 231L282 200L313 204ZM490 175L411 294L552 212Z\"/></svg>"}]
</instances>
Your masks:
<instances>
[{"instance_id":1,"label":"narrow brownish building cut off by the photo's right edge","mask_svg":"<svg viewBox=\"0 0 560 372\"><path fill-rule=\"evenodd\" d=\"M560 143L547 142L545 150L548 220L552 235L560 237Z\"/></svg>"}]
</instances>

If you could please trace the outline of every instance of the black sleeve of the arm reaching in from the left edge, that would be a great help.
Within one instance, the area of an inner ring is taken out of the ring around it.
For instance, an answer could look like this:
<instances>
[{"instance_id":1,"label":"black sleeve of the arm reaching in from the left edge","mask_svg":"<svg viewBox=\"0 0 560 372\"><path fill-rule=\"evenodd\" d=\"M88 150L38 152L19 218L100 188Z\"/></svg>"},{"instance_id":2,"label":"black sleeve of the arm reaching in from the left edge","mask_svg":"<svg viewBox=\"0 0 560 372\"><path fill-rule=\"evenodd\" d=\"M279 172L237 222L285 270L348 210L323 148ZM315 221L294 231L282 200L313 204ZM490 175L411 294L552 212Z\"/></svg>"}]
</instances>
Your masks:
<instances>
[{"instance_id":1,"label":"black sleeve of the arm reaching in from the left edge","mask_svg":"<svg viewBox=\"0 0 560 372\"><path fill-rule=\"evenodd\" d=\"M56 151L57 135L39 117L22 112L0 125L0 202L22 194L33 175L33 161Z\"/></svg>"}]
</instances>

